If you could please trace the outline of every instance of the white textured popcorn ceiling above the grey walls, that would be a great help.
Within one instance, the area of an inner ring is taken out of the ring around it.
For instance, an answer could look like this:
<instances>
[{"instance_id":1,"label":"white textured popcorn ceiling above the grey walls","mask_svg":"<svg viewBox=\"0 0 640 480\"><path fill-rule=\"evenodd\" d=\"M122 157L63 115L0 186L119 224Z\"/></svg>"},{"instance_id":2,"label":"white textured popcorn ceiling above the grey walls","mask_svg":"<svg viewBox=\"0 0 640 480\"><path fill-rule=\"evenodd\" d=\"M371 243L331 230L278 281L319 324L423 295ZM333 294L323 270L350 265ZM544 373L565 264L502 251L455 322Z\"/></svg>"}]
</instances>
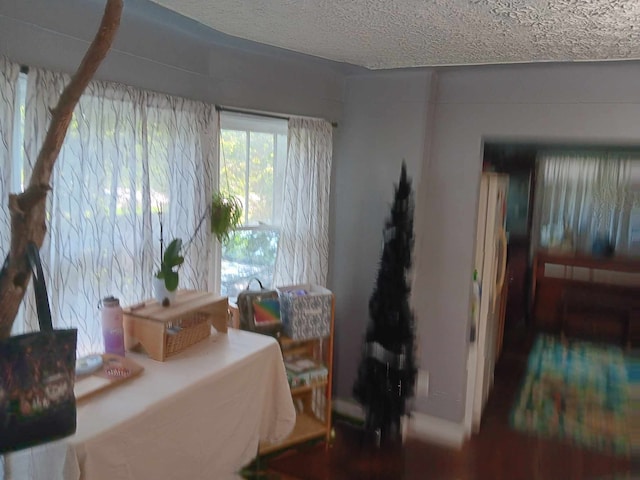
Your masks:
<instances>
[{"instance_id":1,"label":"white textured popcorn ceiling above the grey walls","mask_svg":"<svg viewBox=\"0 0 640 480\"><path fill-rule=\"evenodd\" d=\"M640 59L640 0L153 0L215 30L371 69Z\"/></svg>"}]
</instances>

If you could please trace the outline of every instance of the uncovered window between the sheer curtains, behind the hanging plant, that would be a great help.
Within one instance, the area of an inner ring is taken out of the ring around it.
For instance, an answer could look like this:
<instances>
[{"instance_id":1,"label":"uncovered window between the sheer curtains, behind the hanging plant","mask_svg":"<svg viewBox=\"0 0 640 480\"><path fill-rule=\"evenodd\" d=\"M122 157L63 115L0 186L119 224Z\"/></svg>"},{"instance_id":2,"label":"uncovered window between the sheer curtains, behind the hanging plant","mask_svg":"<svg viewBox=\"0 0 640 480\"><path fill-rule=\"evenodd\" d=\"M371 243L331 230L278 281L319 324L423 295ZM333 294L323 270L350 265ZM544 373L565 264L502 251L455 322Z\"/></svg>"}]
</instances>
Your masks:
<instances>
[{"instance_id":1,"label":"uncovered window between the sheer curtains, behind the hanging plant","mask_svg":"<svg viewBox=\"0 0 640 480\"><path fill-rule=\"evenodd\" d=\"M265 287L272 284L286 155L286 120L221 114L219 188L240 199L244 215L242 227L222 246L222 295L237 296L254 277Z\"/></svg>"}]
</instances>

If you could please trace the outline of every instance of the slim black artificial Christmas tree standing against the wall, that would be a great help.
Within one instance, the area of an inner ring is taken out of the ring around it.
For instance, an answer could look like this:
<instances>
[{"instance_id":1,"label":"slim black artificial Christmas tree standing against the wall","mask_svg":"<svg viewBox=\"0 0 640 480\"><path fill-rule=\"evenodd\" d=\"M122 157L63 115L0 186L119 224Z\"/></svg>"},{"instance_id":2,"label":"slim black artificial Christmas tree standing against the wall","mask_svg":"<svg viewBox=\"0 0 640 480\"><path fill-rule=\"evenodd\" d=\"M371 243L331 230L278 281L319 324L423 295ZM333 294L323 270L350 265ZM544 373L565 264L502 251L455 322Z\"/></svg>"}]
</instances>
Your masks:
<instances>
[{"instance_id":1,"label":"slim black artificial Christmas tree standing against the wall","mask_svg":"<svg viewBox=\"0 0 640 480\"><path fill-rule=\"evenodd\" d=\"M366 412L365 428L376 434L378 442L400 439L400 420L414 391L414 319L407 282L412 247L413 194L403 162L384 229L380 269L369 300L370 321L353 386Z\"/></svg>"}]
</instances>

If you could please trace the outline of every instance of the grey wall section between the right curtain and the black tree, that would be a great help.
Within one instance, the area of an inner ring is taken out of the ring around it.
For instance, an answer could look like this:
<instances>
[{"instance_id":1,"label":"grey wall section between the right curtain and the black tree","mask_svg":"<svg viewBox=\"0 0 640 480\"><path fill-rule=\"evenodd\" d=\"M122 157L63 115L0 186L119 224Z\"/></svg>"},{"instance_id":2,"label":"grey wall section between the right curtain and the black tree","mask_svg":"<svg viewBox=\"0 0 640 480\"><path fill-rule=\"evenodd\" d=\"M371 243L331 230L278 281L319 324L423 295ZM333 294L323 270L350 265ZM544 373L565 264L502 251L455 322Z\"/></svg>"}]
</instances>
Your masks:
<instances>
[{"instance_id":1,"label":"grey wall section between the right curtain and the black tree","mask_svg":"<svg viewBox=\"0 0 640 480\"><path fill-rule=\"evenodd\" d=\"M404 159L414 189L424 161L431 73L350 77L334 158L330 288L336 294L334 395L351 397L369 322L382 231Z\"/></svg>"}]
</instances>

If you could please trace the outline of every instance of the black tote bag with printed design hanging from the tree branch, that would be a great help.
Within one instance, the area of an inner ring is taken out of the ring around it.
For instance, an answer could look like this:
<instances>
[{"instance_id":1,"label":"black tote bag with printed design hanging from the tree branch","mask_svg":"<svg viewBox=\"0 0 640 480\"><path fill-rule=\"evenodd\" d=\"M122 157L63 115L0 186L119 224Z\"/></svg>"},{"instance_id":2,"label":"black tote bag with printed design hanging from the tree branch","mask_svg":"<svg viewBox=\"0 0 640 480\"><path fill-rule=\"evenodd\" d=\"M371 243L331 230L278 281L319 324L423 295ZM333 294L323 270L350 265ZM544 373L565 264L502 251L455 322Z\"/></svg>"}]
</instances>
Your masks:
<instances>
[{"instance_id":1,"label":"black tote bag with printed design hanging from the tree branch","mask_svg":"<svg viewBox=\"0 0 640 480\"><path fill-rule=\"evenodd\" d=\"M0 340L0 453L76 431L78 331L53 329L38 247L29 243L27 255L40 331Z\"/></svg>"}]
</instances>

